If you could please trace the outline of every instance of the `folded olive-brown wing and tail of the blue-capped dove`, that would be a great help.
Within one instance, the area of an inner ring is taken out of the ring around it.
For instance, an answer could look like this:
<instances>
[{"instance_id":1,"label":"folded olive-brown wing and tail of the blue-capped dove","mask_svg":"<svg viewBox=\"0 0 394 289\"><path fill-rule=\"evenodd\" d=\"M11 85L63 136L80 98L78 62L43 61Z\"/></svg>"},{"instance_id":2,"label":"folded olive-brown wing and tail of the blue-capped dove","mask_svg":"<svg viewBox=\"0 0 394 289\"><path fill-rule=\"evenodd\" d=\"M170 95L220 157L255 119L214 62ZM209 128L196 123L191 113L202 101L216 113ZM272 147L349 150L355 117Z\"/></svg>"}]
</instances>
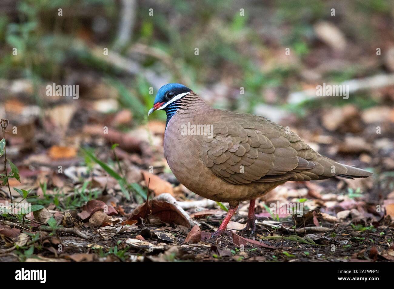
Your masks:
<instances>
[{"instance_id":1,"label":"folded olive-brown wing and tail of the blue-capped dove","mask_svg":"<svg viewBox=\"0 0 394 289\"><path fill-rule=\"evenodd\" d=\"M213 138L203 137L201 160L231 184L370 174L323 157L297 134L264 117L223 110L220 115Z\"/></svg>"}]
</instances>

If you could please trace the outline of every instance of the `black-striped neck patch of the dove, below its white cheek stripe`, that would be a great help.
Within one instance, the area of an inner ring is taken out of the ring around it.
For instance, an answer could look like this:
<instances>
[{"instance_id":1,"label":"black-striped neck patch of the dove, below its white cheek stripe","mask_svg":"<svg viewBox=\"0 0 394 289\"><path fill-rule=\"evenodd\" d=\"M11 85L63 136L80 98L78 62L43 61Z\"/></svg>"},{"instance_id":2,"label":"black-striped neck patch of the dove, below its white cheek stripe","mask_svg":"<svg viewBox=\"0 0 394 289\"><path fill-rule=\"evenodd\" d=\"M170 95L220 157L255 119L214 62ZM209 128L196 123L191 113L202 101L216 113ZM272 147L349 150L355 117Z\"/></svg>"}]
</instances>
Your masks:
<instances>
[{"instance_id":1,"label":"black-striped neck patch of the dove, below its white cheek stripe","mask_svg":"<svg viewBox=\"0 0 394 289\"><path fill-rule=\"evenodd\" d=\"M190 92L190 94L168 105L165 110L167 113L167 122L165 126L167 127L169 120L171 120L175 114L189 114L205 108L209 108L205 101L199 95Z\"/></svg>"}]
</instances>

